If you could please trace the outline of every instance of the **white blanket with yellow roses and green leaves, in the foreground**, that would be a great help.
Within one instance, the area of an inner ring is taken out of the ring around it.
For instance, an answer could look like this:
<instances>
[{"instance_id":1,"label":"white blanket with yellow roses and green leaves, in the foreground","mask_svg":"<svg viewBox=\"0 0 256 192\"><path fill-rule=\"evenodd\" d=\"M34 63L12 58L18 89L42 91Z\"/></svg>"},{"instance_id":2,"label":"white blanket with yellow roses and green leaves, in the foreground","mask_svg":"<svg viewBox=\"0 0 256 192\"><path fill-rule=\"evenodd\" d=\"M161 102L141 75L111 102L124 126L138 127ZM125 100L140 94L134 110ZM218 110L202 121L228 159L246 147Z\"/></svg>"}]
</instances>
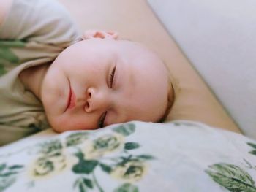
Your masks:
<instances>
[{"instance_id":1,"label":"white blanket with yellow roses and green leaves, in the foreground","mask_svg":"<svg viewBox=\"0 0 256 192\"><path fill-rule=\"evenodd\" d=\"M256 192L256 141L202 123L129 123L0 148L0 191Z\"/></svg>"}]
</instances>

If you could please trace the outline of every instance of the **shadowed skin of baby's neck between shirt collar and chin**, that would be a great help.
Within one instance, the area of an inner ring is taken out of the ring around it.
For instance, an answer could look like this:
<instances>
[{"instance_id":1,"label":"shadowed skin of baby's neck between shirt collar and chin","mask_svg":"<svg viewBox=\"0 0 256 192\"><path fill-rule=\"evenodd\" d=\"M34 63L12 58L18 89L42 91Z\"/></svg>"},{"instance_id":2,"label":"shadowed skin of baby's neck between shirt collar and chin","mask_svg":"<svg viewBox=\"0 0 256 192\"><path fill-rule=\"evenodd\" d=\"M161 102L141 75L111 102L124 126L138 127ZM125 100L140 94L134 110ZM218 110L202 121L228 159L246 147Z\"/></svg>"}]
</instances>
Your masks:
<instances>
[{"instance_id":1,"label":"shadowed skin of baby's neck between shirt collar and chin","mask_svg":"<svg viewBox=\"0 0 256 192\"><path fill-rule=\"evenodd\" d=\"M20 81L25 86L25 89L34 93L38 99L41 99L42 80L48 72L49 66L49 64L31 66L28 69L24 69L19 74Z\"/></svg>"}]
</instances>

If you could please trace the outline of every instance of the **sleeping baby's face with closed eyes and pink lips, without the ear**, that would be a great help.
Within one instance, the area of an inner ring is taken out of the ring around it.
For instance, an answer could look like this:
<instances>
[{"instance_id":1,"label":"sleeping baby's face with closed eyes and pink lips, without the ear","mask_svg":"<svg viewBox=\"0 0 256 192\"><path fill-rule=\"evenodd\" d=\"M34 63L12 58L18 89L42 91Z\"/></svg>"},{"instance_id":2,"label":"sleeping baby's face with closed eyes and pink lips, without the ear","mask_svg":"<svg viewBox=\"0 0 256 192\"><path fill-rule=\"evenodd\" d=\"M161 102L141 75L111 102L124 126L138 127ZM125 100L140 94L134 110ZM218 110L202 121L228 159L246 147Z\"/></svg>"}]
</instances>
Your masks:
<instances>
[{"instance_id":1,"label":"sleeping baby's face with closed eyes and pink lips, without the ear","mask_svg":"<svg viewBox=\"0 0 256 192\"><path fill-rule=\"evenodd\" d=\"M61 132L156 122L165 113L167 94L165 66L146 47L89 39L68 47L50 65L41 99L50 125Z\"/></svg>"}]
</instances>

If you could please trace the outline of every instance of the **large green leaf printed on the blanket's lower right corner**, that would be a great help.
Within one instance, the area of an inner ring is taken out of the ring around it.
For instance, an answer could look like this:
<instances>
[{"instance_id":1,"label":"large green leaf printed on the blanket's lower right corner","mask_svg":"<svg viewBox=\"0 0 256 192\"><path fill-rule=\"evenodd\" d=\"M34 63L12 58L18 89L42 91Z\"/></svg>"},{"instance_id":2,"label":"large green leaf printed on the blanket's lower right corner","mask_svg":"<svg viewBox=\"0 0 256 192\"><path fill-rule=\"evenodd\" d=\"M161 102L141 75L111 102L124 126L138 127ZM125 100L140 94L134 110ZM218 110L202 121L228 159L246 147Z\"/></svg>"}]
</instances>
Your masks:
<instances>
[{"instance_id":1,"label":"large green leaf printed on the blanket's lower right corner","mask_svg":"<svg viewBox=\"0 0 256 192\"><path fill-rule=\"evenodd\" d=\"M232 164L213 164L206 173L229 191L256 192L255 181L243 169Z\"/></svg>"}]
</instances>

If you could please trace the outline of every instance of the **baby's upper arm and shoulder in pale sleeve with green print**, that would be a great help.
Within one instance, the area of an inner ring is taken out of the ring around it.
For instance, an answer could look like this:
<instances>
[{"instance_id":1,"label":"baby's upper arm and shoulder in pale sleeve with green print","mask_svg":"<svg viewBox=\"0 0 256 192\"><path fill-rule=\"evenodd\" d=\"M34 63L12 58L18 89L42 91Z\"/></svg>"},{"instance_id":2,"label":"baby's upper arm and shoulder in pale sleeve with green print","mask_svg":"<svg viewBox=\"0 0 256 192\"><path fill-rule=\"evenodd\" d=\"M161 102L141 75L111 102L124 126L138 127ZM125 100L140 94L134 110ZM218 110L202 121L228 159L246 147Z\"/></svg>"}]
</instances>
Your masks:
<instances>
[{"instance_id":1,"label":"baby's upper arm and shoulder in pale sleeve with green print","mask_svg":"<svg viewBox=\"0 0 256 192\"><path fill-rule=\"evenodd\" d=\"M58 1L0 0L0 12L0 76L27 61L55 58L78 38Z\"/></svg>"}]
</instances>

